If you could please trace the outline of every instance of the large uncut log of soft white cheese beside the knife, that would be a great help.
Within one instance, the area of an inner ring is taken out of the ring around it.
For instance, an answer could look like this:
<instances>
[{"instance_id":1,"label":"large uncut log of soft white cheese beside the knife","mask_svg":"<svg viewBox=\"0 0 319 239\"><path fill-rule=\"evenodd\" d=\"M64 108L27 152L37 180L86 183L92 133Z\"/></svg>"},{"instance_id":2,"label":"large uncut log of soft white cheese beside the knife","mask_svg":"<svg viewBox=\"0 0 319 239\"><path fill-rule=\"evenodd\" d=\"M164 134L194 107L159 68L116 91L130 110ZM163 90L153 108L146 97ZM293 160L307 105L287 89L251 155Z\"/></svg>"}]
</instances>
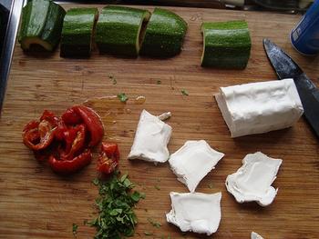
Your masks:
<instances>
[{"instance_id":1,"label":"large uncut log of soft white cheese beside the knife","mask_svg":"<svg viewBox=\"0 0 319 239\"><path fill-rule=\"evenodd\" d=\"M304 113L293 79L221 87L215 98L232 137L287 128Z\"/></svg>"}]
</instances>

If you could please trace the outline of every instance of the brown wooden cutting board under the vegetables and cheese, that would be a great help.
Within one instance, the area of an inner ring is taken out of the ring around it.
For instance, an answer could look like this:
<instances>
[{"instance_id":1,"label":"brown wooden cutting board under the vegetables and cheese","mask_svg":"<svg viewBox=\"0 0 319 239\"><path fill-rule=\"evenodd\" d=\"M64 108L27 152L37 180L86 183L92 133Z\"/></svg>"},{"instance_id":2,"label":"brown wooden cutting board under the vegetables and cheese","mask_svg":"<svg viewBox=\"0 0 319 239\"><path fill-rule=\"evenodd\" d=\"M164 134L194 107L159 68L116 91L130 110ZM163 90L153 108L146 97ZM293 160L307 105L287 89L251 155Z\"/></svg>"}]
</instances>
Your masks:
<instances>
[{"instance_id":1,"label":"brown wooden cutting board under the vegetables and cheese","mask_svg":"<svg viewBox=\"0 0 319 239\"><path fill-rule=\"evenodd\" d=\"M65 5L70 6L74 5ZM172 113L168 120L173 128L170 153L186 140L204 139L226 154L197 188L201 193L222 194L221 224L213 238L250 238L252 231L267 239L318 238L319 147L304 118L289 129L232 139L212 98L220 86L276 78L262 48L263 37L282 46L318 85L318 57L297 54L289 42L288 35L300 16L168 9L181 15L189 30L181 54L167 60L98 55L98 50L90 59L72 60L60 58L58 49L53 54L26 55L19 45L15 46L0 120L0 238L73 238L73 223L78 224L77 238L93 237L95 229L83 225L83 221L96 213L93 204L98 191L91 181L98 176L97 154L80 173L61 177L46 164L37 163L21 138L24 125L38 118L44 109L60 115L67 107L86 100L106 125L104 140L117 142L120 147L119 169L128 172L131 181L146 193L146 199L136 208L139 225L135 238L200 237L181 234L176 226L166 223L169 193L188 192L176 180L169 164L155 166L127 160L142 109L153 115ZM234 19L245 19L251 30L252 56L248 67L243 71L202 68L201 22ZM116 78L116 85L108 75ZM189 96L182 95L182 89ZM118 93L129 95L127 104L94 99ZM144 104L135 101L139 95L146 97ZM224 186L226 176L242 165L244 155L256 151L283 159L274 182L278 194L273 204L265 208L254 203L236 203ZM153 227L148 218L162 226ZM144 232L153 235L147 237Z\"/></svg>"}]
</instances>

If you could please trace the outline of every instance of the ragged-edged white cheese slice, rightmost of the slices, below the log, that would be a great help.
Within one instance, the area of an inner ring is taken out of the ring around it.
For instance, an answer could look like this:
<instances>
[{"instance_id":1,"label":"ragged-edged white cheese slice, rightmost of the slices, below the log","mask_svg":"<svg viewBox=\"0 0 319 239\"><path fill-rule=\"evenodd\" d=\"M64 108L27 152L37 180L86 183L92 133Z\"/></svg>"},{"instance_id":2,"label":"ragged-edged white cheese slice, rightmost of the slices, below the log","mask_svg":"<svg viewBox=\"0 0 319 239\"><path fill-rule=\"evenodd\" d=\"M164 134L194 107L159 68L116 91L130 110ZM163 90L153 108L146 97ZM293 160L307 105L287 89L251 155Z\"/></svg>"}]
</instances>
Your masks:
<instances>
[{"instance_id":1,"label":"ragged-edged white cheese slice, rightmost of the slices, below the log","mask_svg":"<svg viewBox=\"0 0 319 239\"><path fill-rule=\"evenodd\" d=\"M271 158L261 152L247 154L242 160L242 167L227 176L228 192L238 203L256 201L262 206L272 204L278 191L272 184L282 162L282 159Z\"/></svg>"}]
</instances>

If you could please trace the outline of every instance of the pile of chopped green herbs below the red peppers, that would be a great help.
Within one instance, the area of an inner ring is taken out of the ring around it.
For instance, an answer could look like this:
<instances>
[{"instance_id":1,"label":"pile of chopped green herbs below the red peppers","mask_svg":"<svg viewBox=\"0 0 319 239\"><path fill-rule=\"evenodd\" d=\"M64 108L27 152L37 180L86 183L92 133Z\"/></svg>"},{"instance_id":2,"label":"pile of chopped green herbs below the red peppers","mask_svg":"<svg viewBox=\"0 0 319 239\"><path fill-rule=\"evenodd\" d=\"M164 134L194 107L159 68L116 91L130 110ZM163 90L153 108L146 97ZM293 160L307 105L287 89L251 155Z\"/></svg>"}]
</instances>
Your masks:
<instances>
[{"instance_id":1,"label":"pile of chopped green herbs below the red peppers","mask_svg":"<svg viewBox=\"0 0 319 239\"><path fill-rule=\"evenodd\" d=\"M119 173L112 174L107 181L98 182L99 197L96 200L98 217L88 224L96 227L95 239L123 238L134 234L138 223L133 211L139 199L145 194L132 191L134 184L129 180L128 174L119 177Z\"/></svg>"}]
</instances>

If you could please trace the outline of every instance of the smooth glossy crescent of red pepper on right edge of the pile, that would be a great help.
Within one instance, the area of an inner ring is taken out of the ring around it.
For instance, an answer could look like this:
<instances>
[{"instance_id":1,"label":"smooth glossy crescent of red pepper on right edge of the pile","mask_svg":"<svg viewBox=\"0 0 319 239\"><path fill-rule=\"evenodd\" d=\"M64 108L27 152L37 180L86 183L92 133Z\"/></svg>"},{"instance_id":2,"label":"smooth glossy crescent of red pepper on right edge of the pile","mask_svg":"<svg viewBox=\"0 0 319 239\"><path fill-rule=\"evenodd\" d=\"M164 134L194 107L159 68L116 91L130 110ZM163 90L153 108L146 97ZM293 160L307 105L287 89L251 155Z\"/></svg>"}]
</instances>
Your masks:
<instances>
[{"instance_id":1,"label":"smooth glossy crescent of red pepper on right edge of the pile","mask_svg":"<svg viewBox=\"0 0 319 239\"><path fill-rule=\"evenodd\" d=\"M104 127L98 114L84 105L73 106L73 109L77 115L80 115L84 124L87 125L87 130L90 133L89 147L97 145L103 138Z\"/></svg>"}]
</instances>

